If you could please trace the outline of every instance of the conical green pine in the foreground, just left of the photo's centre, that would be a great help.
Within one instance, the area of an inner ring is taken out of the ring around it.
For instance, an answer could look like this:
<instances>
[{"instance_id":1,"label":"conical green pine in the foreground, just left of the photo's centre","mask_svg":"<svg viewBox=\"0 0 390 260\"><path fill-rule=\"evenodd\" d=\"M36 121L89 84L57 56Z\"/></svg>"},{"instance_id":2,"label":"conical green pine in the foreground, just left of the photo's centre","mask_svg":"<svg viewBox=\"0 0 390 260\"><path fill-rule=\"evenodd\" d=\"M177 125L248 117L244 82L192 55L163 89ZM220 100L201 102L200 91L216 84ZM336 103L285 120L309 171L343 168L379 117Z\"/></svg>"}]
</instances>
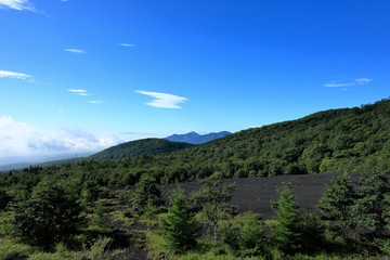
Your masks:
<instances>
[{"instance_id":1,"label":"conical green pine in the foreground, just left of the photo's centre","mask_svg":"<svg viewBox=\"0 0 390 260\"><path fill-rule=\"evenodd\" d=\"M170 198L171 207L161 222L167 248L180 253L196 246L197 227L183 190L176 190Z\"/></svg>"}]
</instances>

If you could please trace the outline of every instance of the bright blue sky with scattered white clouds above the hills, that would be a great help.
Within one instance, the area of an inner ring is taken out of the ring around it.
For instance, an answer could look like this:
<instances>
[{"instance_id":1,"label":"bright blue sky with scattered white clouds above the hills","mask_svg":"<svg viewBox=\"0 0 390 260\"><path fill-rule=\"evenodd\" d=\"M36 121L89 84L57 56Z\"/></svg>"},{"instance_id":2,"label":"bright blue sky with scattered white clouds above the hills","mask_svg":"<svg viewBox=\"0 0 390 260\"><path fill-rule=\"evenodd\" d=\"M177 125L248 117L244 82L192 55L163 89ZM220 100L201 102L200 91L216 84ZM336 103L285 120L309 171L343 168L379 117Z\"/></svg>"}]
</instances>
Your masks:
<instances>
[{"instance_id":1,"label":"bright blue sky with scattered white clouds above the hills","mask_svg":"<svg viewBox=\"0 0 390 260\"><path fill-rule=\"evenodd\" d=\"M389 11L388 0L0 0L0 159L388 98Z\"/></svg>"}]
</instances>

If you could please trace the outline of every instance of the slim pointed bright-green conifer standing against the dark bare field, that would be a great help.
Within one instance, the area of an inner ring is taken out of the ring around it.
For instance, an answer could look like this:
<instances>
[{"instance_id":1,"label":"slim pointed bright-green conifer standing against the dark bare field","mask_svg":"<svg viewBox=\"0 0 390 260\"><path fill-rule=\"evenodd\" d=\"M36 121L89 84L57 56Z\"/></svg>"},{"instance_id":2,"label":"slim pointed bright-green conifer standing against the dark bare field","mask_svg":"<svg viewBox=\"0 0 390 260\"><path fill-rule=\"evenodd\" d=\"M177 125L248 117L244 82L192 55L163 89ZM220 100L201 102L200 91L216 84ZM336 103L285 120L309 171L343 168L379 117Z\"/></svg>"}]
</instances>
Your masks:
<instances>
[{"instance_id":1,"label":"slim pointed bright-green conifer standing against the dark bare field","mask_svg":"<svg viewBox=\"0 0 390 260\"><path fill-rule=\"evenodd\" d=\"M276 218L272 226L272 238L282 251L295 252L299 249L301 239L299 206L289 183L284 183L278 194L280 199L273 204Z\"/></svg>"}]
</instances>

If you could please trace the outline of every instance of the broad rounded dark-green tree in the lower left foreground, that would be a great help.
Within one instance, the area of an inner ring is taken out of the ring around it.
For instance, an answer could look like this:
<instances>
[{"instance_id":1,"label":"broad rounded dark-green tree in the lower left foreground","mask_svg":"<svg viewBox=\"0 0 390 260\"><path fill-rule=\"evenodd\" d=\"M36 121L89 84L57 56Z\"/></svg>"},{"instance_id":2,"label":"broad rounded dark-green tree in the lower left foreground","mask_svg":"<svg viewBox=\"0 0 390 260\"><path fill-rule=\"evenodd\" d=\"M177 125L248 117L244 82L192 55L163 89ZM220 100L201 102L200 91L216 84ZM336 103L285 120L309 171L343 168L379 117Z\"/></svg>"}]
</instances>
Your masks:
<instances>
[{"instance_id":1,"label":"broad rounded dark-green tree in the lower left foreground","mask_svg":"<svg viewBox=\"0 0 390 260\"><path fill-rule=\"evenodd\" d=\"M27 202L15 206L11 232L28 244L50 248L77 233L82 223L80 211L77 198L64 185L42 181Z\"/></svg>"}]
</instances>

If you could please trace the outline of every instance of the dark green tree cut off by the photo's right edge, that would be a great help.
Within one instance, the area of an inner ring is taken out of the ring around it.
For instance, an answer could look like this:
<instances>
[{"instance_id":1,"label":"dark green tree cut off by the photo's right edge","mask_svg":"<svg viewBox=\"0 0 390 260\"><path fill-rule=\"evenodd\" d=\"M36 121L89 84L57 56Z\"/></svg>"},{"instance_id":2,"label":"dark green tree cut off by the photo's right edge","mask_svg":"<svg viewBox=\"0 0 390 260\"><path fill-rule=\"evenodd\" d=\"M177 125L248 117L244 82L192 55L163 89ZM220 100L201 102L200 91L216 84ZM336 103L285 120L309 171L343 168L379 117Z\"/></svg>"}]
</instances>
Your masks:
<instances>
[{"instance_id":1,"label":"dark green tree cut off by the photo's right edge","mask_svg":"<svg viewBox=\"0 0 390 260\"><path fill-rule=\"evenodd\" d=\"M386 210L390 193L386 172L363 173L358 187L359 198L352 207L356 227L367 235L380 235L385 232Z\"/></svg>"}]
</instances>

